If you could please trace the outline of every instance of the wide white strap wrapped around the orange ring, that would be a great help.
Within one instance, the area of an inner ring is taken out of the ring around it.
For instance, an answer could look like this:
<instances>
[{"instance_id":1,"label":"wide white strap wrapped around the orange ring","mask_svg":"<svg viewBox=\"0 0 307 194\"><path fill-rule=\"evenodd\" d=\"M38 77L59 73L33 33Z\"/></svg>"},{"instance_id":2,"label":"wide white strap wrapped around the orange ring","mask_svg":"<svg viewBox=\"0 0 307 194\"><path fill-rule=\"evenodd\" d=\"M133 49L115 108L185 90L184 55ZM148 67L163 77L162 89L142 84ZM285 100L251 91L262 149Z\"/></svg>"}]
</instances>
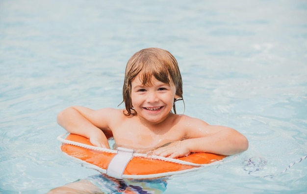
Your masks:
<instances>
[{"instance_id":1,"label":"wide white strap wrapped around the orange ring","mask_svg":"<svg viewBox=\"0 0 307 194\"><path fill-rule=\"evenodd\" d=\"M126 148L117 148L117 154L110 161L106 174L115 178L122 178L123 173L133 158L134 150Z\"/></svg>"}]
</instances>

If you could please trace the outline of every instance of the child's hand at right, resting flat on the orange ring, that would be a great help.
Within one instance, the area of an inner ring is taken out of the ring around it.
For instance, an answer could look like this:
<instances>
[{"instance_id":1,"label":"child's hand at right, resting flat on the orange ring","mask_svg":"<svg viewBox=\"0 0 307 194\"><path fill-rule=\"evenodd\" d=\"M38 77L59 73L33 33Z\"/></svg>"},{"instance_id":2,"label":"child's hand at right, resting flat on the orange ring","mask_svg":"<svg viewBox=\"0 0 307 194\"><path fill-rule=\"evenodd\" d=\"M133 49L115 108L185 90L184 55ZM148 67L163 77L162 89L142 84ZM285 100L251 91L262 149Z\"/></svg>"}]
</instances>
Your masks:
<instances>
[{"instance_id":1,"label":"child's hand at right, resting flat on the orange ring","mask_svg":"<svg viewBox=\"0 0 307 194\"><path fill-rule=\"evenodd\" d=\"M163 157L178 158L190 154L189 149L184 144L184 141L175 141L165 147L160 147L153 151L154 155Z\"/></svg>"}]
</instances>

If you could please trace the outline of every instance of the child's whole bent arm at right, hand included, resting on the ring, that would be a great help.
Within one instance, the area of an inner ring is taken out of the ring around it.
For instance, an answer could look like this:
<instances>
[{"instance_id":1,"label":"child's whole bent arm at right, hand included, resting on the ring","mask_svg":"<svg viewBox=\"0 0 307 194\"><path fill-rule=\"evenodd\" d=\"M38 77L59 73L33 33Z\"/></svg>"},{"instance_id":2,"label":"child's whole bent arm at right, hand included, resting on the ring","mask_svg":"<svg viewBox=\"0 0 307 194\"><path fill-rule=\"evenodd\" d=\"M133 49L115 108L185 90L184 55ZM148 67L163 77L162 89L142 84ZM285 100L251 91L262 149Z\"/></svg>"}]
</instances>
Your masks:
<instances>
[{"instance_id":1,"label":"child's whole bent arm at right, hand included, resting on the ring","mask_svg":"<svg viewBox=\"0 0 307 194\"><path fill-rule=\"evenodd\" d=\"M188 123L193 124L187 129L187 138L159 148L154 154L172 158L191 152L233 155L248 149L248 140L235 129L208 125L199 119L192 119Z\"/></svg>"}]
</instances>

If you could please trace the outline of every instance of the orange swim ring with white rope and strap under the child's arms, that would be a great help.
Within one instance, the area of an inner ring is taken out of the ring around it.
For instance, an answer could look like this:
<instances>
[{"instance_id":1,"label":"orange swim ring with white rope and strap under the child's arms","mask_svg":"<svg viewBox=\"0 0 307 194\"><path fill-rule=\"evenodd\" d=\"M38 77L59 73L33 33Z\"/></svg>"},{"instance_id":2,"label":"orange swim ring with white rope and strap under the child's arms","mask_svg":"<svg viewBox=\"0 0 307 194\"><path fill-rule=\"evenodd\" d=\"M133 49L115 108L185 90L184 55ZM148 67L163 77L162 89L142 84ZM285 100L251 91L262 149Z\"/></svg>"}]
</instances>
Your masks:
<instances>
[{"instance_id":1,"label":"orange swim ring with white rope and strap under the child's arms","mask_svg":"<svg viewBox=\"0 0 307 194\"><path fill-rule=\"evenodd\" d=\"M85 137L69 134L63 139L65 135L57 138L62 142L63 152L115 178L156 178L191 172L225 157L212 153L191 153L188 156L174 159L136 153L124 148L117 150L99 148L93 146Z\"/></svg>"}]
</instances>

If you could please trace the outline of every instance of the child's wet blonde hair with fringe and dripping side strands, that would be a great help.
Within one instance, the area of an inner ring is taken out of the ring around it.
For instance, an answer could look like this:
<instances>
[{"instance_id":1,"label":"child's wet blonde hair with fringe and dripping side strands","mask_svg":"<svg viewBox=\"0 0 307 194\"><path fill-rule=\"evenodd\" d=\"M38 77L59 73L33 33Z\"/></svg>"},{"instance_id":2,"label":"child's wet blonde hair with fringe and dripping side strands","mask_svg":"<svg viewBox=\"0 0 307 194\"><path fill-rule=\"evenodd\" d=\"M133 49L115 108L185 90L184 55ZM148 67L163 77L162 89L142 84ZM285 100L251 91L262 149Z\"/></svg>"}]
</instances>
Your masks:
<instances>
[{"instance_id":1,"label":"child's wet blonde hair with fringe and dripping side strands","mask_svg":"<svg viewBox=\"0 0 307 194\"><path fill-rule=\"evenodd\" d=\"M174 100L173 110L176 114L175 101L183 100L182 98L182 79L179 71L179 66L175 57L167 50L161 48L145 48L136 52L128 60L125 80L123 86L123 102L125 103L127 113L131 113L132 99L131 99L131 82L140 74L143 85L151 85L152 76L160 82L165 84L174 84L176 86L176 95L178 99Z\"/></svg>"}]
</instances>

